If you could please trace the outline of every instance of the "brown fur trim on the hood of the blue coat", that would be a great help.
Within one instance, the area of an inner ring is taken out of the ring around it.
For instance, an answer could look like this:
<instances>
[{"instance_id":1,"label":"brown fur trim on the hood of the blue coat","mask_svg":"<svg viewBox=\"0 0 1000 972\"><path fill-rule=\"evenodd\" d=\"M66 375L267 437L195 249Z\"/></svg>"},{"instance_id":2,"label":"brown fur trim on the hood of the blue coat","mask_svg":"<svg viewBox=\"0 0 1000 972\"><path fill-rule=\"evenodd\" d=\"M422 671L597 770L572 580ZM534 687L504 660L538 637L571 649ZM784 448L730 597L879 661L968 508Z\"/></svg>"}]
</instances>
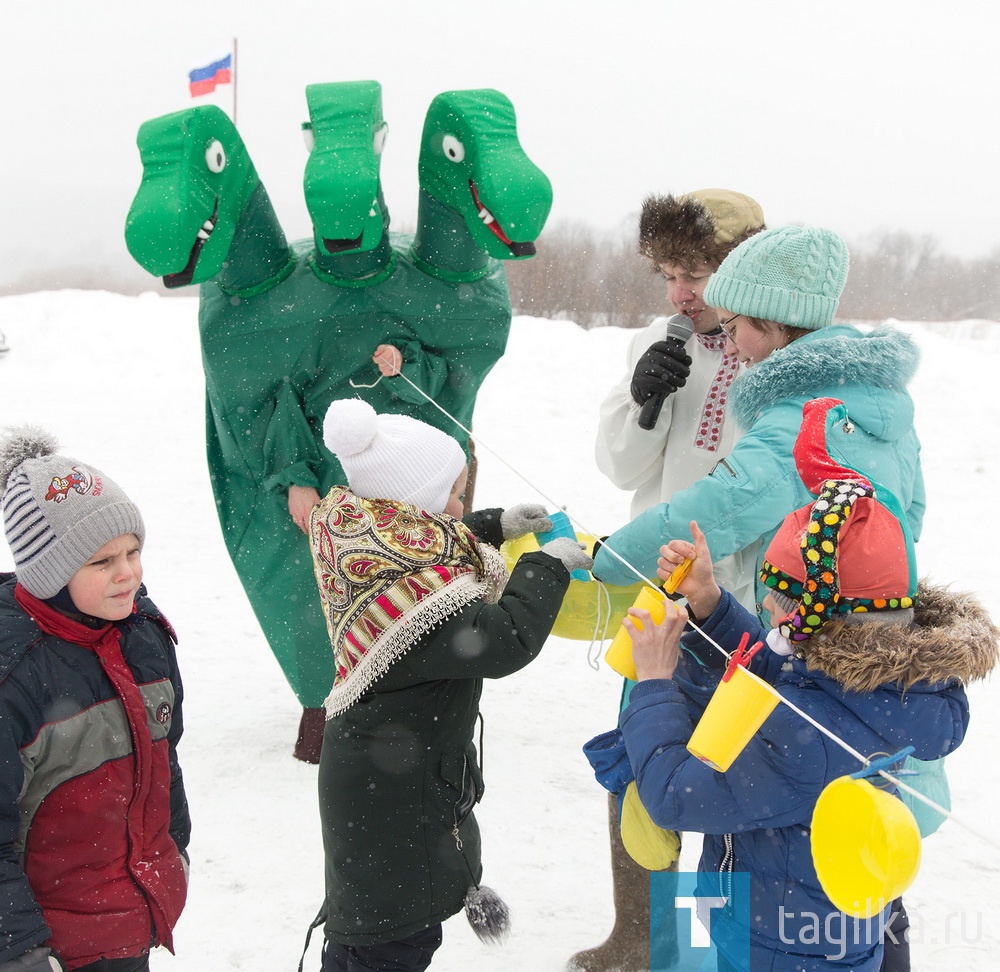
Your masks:
<instances>
[{"instance_id":1,"label":"brown fur trim on the hood of the blue coat","mask_svg":"<svg viewBox=\"0 0 1000 972\"><path fill-rule=\"evenodd\" d=\"M851 692L953 680L968 685L1000 660L1000 629L972 594L923 580L912 624L831 621L795 648L811 671Z\"/></svg>"}]
</instances>

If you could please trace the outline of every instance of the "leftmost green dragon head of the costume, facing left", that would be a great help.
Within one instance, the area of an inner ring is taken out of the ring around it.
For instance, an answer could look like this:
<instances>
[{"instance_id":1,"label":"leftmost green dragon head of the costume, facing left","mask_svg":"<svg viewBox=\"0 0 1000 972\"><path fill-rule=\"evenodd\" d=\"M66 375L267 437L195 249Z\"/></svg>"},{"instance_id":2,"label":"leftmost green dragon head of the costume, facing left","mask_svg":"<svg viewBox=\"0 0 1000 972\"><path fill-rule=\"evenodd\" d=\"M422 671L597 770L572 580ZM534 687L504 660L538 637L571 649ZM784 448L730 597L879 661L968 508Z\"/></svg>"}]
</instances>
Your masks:
<instances>
[{"instance_id":1,"label":"leftmost green dragon head of the costume, facing left","mask_svg":"<svg viewBox=\"0 0 1000 972\"><path fill-rule=\"evenodd\" d=\"M125 222L129 253L167 287L204 283L226 261L260 183L243 139L214 105L144 122L142 183Z\"/></svg>"}]
</instances>

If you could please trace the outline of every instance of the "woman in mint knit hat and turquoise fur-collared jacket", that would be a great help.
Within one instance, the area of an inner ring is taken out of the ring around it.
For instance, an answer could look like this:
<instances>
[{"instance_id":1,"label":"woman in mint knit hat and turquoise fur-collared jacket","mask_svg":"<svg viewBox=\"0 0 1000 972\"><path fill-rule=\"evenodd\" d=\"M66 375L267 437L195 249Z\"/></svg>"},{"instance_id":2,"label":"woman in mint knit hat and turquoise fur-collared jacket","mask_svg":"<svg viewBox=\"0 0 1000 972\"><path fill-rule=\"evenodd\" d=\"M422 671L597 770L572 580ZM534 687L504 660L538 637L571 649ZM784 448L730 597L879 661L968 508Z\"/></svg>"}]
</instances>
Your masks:
<instances>
[{"instance_id":1,"label":"woman in mint knit hat and turquoise fur-collared jacket","mask_svg":"<svg viewBox=\"0 0 1000 972\"><path fill-rule=\"evenodd\" d=\"M832 455L897 496L919 538L924 486L907 392L919 353L893 328L863 332L834 323L848 262L836 233L798 226L764 230L726 257L705 301L719 309L730 347L746 365L728 405L746 432L708 476L612 533L595 558L596 577L634 583L627 565L654 577L660 547L686 537L692 520L717 558L758 539L763 550L784 517L809 499L792 446L802 406L812 398L845 403L848 417L831 434ZM757 594L760 611L760 584Z\"/></svg>"}]
</instances>

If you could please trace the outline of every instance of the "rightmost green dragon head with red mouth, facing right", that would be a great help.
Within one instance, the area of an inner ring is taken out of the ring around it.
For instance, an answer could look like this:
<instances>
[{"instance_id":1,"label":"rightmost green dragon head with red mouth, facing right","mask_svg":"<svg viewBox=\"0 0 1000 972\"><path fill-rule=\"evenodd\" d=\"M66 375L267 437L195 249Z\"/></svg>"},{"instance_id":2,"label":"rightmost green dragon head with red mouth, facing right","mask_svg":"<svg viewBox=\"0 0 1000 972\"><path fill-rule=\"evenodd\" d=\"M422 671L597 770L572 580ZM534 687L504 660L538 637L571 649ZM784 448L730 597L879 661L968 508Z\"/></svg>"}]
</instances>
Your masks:
<instances>
[{"instance_id":1,"label":"rightmost green dragon head with red mouth, facing right","mask_svg":"<svg viewBox=\"0 0 1000 972\"><path fill-rule=\"evenodd\" d=\"M535 253L552 184L517 138L514 106L499 91L446 91L427 109L420 185L462 214L476 245L500 260Z\"/></svg>"}]
</instances>

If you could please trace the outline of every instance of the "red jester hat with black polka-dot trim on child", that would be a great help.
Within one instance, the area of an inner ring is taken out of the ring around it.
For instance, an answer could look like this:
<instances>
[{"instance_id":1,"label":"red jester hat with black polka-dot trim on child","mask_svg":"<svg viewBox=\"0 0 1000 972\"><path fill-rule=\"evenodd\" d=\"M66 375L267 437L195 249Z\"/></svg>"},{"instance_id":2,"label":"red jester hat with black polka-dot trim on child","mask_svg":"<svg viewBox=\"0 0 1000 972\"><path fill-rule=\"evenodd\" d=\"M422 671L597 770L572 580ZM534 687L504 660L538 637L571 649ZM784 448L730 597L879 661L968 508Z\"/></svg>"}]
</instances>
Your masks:
<instances>
[{"instance_id":1,"label":"red jester hat with black polka-dot trim on child","mask_svg":"<svg viewBox=\"0 0 1000 972\"><path fill-rule=\"evenodd\" d=\"M802 407L793 455L816 500L785 518L760 571L767 587L797 602L778 624L789 641L805 640L837 615L906 611L916 604L913 537L899 501L827 452L828 424L847 420L844 403L835 398Z\"/></svg>"}]
</instances>

